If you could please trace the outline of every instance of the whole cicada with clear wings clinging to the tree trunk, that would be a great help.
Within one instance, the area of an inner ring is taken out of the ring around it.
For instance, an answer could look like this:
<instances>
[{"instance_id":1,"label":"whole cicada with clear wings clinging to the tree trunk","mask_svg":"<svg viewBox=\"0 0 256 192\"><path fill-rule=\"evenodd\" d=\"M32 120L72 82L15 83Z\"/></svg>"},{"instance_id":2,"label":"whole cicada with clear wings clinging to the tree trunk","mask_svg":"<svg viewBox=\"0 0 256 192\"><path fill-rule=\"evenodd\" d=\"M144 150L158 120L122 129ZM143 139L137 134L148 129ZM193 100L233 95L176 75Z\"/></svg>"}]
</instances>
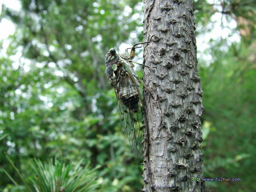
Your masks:
<instances>
[{"instance_id":1,"label":"whole cicada with clear wings clinging to the tree trunk","mask_svg":"<svg viewBox=\"0 0 256 192\"><path fill-rule=\"evenodd\" d=\"M135 62L132 62L132 59L135 57L135 49L149 42L134 44L131 48L125 50L125 54L119 53L117 49L113 47L105 56L106 75L116 92L122 127L127 134L132 151L136 156L139 154L143 143L143 135L141 132L144 126L147 131L148 140L148 124L140 93L139 83L143 84L143 82L133 69ZM128 49L131 49L130 54ZM148 67L146 65L142 66Z\"/></svg>"}]
</instances>

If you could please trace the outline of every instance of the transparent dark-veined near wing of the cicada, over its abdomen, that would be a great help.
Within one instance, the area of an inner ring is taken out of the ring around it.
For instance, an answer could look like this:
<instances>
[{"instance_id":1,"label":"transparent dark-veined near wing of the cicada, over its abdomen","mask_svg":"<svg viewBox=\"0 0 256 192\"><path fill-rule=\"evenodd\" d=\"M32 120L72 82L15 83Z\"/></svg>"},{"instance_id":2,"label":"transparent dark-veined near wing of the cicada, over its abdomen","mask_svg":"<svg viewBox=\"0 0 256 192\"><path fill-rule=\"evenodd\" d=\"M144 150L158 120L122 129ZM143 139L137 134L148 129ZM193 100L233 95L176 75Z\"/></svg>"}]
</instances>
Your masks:
<instances>
[{"instance_id":1,"label":"transparent dark-veined near wing of the cicada, over its abdomen","mask_svg":"<svg viewBox=\"0 0 256 192\"><path fill-rule=\"evenodd\" d=\"M140 153L143 140L144 113L141 106L141 93L138 81L134 82L132 74L120 68L119 81L116 84L116 97L119 106L119 116L132 147L134 155ZM138 92L139 91L139 92Z\"/></svg>"}]
</instances>

